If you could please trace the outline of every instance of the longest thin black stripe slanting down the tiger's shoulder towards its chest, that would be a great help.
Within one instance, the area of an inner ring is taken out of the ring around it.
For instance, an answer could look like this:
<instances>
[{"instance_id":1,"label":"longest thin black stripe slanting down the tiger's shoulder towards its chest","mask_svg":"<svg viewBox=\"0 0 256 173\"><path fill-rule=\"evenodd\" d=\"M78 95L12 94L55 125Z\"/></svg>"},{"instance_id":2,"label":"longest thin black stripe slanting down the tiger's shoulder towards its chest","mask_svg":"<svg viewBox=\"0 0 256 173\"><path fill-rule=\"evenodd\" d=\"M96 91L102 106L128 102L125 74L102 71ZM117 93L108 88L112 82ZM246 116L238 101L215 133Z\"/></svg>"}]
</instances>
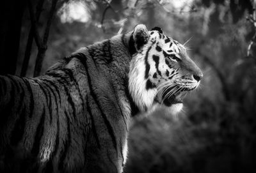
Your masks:
<instances>
[{"instance_id":1,"label":"longest thin black stripe slanting down the tiger's shoulder towards its chest","mask_svg":"<svg viewBox=\"0 0 256 173\"><path fill-rule=\"evenodd\" d=\"M83 54L81 54L82 56L84 56ZM104 119L104 123L106 124L107 128L108 128L108 132L109 132L109 135L112 139L112 142L113 142L113 146L115 147L116 149L116 153L117 153L117 144L116 144L116 137L115 137L115 133L114 133L114 130L113 130L113 127L111 126L111 124L109 123L108 121L108 118L106 116L106 114L104 114L104 112L102 111L100 105L99 105L99 100L97 99L97 96L95 95L95 93L93 93L93 89L92 89L92 80L91 80L91 77L90 77L90 73L88 71L88 66L87 66L87 63L86 63L86 57L84 56L84 58L79 58L81 59L81 63L84 64L84 68L86 70L86 73L88 74L88 86L90 87L90 94L92 95L93 97L93 100L95 100L95 103L97 104L97 107L99 107L99 110L100 110L100 115L102 116L102 118ZM88 59L87 59L88 60Z\"/></svg>"}]
</instances>

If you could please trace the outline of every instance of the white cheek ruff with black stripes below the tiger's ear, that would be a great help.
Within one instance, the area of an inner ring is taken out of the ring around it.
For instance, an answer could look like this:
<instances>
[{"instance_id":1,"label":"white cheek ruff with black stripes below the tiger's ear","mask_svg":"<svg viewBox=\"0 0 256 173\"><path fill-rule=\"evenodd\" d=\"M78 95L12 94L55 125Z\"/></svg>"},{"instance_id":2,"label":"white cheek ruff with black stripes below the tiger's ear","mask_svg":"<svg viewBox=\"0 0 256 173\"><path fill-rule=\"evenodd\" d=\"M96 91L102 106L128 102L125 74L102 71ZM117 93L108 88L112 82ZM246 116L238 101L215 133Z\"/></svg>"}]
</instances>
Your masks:
<instances>
[{"instance_id":1,"label":"white cheek ruff with black stripes below the tiger's ear","mask_svg":"<svg viewBox=\"0 0 256 173\"><path fill-rule=\"evenodd\" d=\"M157 49L155 40L149 41L143 51L138 52L130 63L129 91L141 112L152 111L159 84L175 75L168 66L163 52Z\"/></svg>"}]
</instances>

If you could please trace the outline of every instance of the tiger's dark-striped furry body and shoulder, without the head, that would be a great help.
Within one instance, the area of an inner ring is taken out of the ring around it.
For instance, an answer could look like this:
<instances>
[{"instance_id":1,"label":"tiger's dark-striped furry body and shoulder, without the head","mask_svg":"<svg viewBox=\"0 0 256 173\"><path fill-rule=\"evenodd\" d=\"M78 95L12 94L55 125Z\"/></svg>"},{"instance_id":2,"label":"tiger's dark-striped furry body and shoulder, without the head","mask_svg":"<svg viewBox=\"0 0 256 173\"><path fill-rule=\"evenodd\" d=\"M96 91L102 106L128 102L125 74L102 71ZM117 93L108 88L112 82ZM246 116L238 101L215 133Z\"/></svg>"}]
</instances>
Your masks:
<instances>
[{"instance_id":1,"label":"tiger's dark-striped furry body and shoulder, without the head","mask_svg":"<svg viewBox=\"0 0 256 173\"><path fill-rule=\"evenodd\" d=\"M0 172L122 172L129 34L78 50L40 77L0 77Z\"/></svg>"}]
</instances>

